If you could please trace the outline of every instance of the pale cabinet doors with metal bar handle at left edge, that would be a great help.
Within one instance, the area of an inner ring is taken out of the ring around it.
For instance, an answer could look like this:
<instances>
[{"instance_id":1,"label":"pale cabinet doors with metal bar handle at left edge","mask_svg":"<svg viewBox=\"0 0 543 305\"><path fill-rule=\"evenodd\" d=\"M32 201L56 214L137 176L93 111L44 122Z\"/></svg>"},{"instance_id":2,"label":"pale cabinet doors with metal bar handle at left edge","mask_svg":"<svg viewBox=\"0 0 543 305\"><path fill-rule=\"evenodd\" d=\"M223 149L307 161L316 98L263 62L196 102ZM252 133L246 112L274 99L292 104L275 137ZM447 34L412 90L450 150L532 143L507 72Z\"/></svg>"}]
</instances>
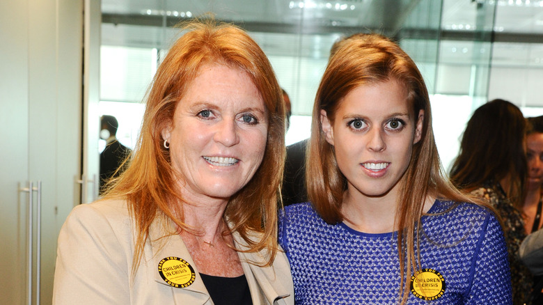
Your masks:
<instances>
[{"instance_id":1,"label":"pale cabinet doors with metal bar handle at left edge","mask_svg":"<svg viewBox=\"0 0 543 305\"><path fill-rule=\"evenodd\" d=\"M51 304L58 230L80 201L83 5L0 1L1 304ZM41 182L40 251L30 181Z\"/></svg>"}]
</instances>

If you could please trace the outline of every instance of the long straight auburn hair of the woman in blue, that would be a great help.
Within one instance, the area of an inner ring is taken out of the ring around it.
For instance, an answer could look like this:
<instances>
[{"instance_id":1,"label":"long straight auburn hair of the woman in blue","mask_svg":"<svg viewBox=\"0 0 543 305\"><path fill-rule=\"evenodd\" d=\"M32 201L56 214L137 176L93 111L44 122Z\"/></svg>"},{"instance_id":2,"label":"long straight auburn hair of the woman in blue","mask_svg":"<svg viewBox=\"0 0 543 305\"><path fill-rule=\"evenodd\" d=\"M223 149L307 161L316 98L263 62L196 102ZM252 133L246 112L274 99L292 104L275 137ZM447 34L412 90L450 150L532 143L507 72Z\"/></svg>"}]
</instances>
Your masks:
<instances>
[{"instance_id":1,"label":"long straight auburn hair of the woman in blue","mask_svg":"<svg viewBox=\"0 0 543 305\"><path fill-rule=\"evenodd\" d=\"M400 258L400 297L407 302L409 286L405 275L420 269L415 253L418 226L428 195L456 201L472 201L450 184L441 168L432 131L430 97L414 61L395 42L379 34L355 34L342 40L331 56L315 97L313 123L306 157L308 197L322 219L329 224L343 221L341 205L347 180L340 172L334 148L325 139L320 111L333 122L340 102L354 88L397 81L407 91L406 102L414 114L424 111L421 138L414 144L409 166L400 185L398 257ZM417 233L415 233L417 232ZM403 290L403 292L402 292Z\"/></svg>"}]
</instances>

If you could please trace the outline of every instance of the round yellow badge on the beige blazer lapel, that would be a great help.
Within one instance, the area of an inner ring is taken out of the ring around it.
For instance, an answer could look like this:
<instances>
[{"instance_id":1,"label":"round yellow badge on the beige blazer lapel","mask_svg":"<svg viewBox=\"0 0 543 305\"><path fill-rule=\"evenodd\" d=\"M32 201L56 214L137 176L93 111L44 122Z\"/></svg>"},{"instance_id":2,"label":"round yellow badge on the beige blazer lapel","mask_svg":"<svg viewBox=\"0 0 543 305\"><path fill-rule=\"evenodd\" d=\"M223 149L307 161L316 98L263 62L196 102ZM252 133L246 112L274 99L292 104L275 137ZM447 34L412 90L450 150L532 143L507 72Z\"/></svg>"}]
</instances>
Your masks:
<instances>
[{"instance_id":1,"label":"round yellow badge on the beige blazer lapel","mask_svg":"<svg viewBox=\"0 0 543 305\"><path fill-rule=\"evenodd\" d=\"M158 269L162 279L175 288L189 287L196 279L192 266L186 260L175 256L162 258Z\"/></svg>"}]
</instances>

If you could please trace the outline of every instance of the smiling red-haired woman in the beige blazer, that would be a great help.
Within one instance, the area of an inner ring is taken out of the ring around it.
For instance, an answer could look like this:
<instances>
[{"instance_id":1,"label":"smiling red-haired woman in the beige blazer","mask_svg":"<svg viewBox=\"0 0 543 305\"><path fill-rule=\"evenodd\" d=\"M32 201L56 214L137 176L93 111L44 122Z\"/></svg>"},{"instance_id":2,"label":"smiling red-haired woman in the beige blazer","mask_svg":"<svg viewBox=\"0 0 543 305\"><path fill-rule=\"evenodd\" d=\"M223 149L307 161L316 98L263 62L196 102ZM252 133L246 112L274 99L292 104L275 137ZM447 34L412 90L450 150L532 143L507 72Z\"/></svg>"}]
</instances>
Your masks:
<instances>
[{"instance_id":1,"label":"smiling red-haired woman in the beige blazer","mask_svg":"<svg viewBox=\"0 0 543 305\"><path fill-rule=\"evenodd\" d=\"M54 304L293 304L276 239L281 88L241 29L183 30L129 167L61 229Z\"/></svg>"}]
</instances>

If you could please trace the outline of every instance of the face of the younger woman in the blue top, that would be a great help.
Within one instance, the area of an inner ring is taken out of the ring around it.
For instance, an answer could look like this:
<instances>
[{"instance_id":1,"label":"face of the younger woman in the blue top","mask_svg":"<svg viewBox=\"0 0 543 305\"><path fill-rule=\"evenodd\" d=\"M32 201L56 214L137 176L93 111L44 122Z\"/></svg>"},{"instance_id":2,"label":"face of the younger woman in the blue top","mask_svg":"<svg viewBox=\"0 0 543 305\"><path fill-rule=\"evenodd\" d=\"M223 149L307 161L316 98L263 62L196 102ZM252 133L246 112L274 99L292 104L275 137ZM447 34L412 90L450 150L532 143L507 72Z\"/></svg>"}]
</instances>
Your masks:
<instances>
[{"instance_id":1,"label":"face of the younger woman in the blue top","mask_svg":"<svg viewBox=\"0 0 543 305\"><path fill-rule=\"evenodd\" d=\"M396 81L359 86L340 101L333 122L321 112L349 196L394 196L420 140L423 111L413 114Z\"/></svg>"}]
</instances>

